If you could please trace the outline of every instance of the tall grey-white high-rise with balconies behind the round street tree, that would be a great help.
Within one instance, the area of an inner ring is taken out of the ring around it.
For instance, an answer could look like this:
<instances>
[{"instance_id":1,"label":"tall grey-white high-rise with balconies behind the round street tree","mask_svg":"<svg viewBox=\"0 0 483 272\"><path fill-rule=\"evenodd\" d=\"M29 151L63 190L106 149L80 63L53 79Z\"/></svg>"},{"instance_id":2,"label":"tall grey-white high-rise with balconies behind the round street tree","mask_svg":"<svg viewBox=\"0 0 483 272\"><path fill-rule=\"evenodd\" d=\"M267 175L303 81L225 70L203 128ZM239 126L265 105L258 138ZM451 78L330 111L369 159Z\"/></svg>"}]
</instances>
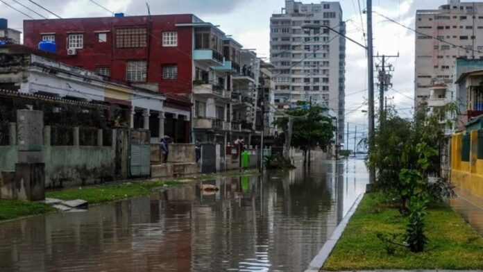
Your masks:
<instances>
[{"instance_id":1,"label":"tall grey-white high-rise with balconies behind the round street tree","mask_svg":"<svg viewBox=\"0 0 483 272\"><path fill-rule=\"evenodd\" d=\"M270 60L275 67L275 103L290 108L297 101L333 110L339 142L344 142L346 32L339 2L285 1L270 19Z\"/></svg>"}]
</instances>

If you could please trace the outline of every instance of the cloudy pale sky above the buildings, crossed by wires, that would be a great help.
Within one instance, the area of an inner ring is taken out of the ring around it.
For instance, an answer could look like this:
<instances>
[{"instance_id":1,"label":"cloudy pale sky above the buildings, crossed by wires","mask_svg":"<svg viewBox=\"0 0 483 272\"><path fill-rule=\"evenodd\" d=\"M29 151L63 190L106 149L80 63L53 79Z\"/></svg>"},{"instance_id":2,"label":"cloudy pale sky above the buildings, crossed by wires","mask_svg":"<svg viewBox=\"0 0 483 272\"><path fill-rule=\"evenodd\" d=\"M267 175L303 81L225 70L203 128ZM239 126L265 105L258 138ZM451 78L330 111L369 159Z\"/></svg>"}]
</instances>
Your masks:
<instances>
[{"instance_id":1,"label":"cloudy pale sky above the buildings, crossed by wires","mask_svg":"<svg viewBox=\"0 0 483 272\"><path fill-rule=\"evenodd\" d=\"M2 0L11 6L40 19L39 15L19 5L22 3L48 18L55 18L28 0ZM100 17L110 13L90 0L33 0L60 17ZM146 15L146 1L94 0L108 10L125 12L126 15ZM16 3L19 2L19 3ZM151 14L193 13L205 22L219 25L221 30L243 44L245 49L256 49L257 55L269 57L270 17L280 13L284 0L147 0ZM317 1L303 0L304 3ZM364 44L367 31L366 16L359 13L366 8L366 0L339 1L347 22L347 35ZM434 9L446 0L373 0L373 10L400 24L414 28L414 17L418 9ZM9 21L9 27L22 28L22 20L28 17L8 8L0 2L0 17ZM364 32L363 32L364 30ZM22 29L19 29L22 31ZM373 14L374 54L397 55L390 58L393 65L393 90L386 95L388 104L394 105L402 117L411 117L414 105L414 32ZM349 142L357 142L367 132L367 58L366 52L353 42L346 42L346 121L349 123ZM375 65L380 63L376 58ZM376 93L377 87L376 87ZM378 99L375 99L377 110ZM359 108L360 107L360 108ZM347 129L347 128L346 128Z\"/></svg>"}]
</instances>

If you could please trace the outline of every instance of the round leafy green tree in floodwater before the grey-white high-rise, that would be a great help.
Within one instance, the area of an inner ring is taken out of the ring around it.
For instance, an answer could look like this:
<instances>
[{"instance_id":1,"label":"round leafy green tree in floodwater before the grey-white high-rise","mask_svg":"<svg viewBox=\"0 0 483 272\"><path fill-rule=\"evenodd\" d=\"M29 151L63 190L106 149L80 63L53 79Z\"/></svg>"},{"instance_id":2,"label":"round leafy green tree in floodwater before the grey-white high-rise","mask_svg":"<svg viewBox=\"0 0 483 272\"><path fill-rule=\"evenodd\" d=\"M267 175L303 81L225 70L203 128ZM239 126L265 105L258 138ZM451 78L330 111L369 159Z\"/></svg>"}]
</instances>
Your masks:
<instances>
[{"instance_id":1,"label":"round leafy green tree in floodwater before the grey-white high-rise","mask_svg":"<svg viewBox=\"0 0 483 272\"><path fill-rule=\"evenodd\" d=\"M327 108L319 105L310 105L306 101L298 101L297 108L285 111L285 117L278 118L274 124L284 130L287 144L300 148L304 153L304 164L307 162L307 151L320 147L327 151L332 138L334 137L335 126L333 119L325 116ZM292 129L289 129L289 119L294 121ZM291 133L290 133L291 131ZM287 146L285 146L287 148Z\"/></svg>"}]
</instances>

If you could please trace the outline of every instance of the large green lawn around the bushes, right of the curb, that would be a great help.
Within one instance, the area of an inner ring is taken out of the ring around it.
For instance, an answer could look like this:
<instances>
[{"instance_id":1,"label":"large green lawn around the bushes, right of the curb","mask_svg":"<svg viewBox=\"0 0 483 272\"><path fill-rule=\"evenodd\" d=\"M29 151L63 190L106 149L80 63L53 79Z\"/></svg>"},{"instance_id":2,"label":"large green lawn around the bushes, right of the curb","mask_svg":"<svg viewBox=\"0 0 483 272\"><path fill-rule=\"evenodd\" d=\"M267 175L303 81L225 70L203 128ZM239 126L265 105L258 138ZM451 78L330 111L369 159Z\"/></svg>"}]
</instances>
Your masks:
<instances>
[{"instance_id":1,"label":"large green lawn around the bushes, right of the curb","mask_svg":"<svg viewBox=\"0 0 483 272\"><path fill-rule=\"evenodd\" d=\"M322 270L483 269L483 237L447 205L427 212L425 250L398 246L388 255L376 233L404 233L407 217L366 194Z\"/></svg>"}]
</instances>

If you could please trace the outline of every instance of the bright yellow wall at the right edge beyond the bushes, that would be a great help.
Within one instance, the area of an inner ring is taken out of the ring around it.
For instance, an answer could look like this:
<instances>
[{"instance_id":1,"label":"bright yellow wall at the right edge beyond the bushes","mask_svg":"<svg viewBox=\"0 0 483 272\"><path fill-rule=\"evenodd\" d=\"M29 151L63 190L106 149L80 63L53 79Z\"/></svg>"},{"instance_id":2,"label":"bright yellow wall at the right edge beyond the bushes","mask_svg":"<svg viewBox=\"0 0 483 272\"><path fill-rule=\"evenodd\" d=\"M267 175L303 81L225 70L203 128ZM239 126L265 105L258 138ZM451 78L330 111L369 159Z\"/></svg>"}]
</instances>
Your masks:
<instances>
[{"instance_id":1,"label":"bright yellow wall at the right edge beyond the bushes","mask_svg":"<svg viewBox=\"0 0 483 272\"><path fill-rule=\"evenodd\" d=\"M458 190L483 198L483 160L477 159L477 131L471 131L470 162L461 162L462 133L452 136L451 182Z\"/></svg>"}]
</instances>

